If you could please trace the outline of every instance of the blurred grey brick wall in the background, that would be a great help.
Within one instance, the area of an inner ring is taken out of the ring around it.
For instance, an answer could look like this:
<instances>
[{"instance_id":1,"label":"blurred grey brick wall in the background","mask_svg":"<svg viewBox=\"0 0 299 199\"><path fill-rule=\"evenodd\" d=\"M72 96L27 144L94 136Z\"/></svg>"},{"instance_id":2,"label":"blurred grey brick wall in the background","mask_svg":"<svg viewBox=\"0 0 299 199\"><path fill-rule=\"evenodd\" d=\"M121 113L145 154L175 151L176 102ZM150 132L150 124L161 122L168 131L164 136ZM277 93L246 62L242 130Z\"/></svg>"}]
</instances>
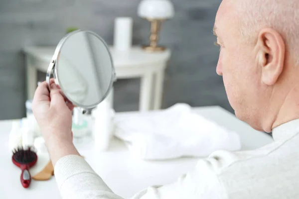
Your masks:
<instances>
[{"instance_id":1,"label":"blurred grey brick wall in the background","mask_svg":"<svg viewBox=\"0 0 299 199\"><path fill-rule=\"evenodd\" d=\"M90 29L113 44L113 22L134 18L134 44L147 43L149 23L137 16L140 0L1 0L0 119L24 116L25 70L21 48L56 45L68 26ZM212 27L221 0L172 0L175 16L162 25L160 43L172 50L165 74L163 107L221 105L232 111L215 69L218 48ZM39 74L44 80L44 74ZM137 110L138 79L115 84L117 111Z\"/></svg>"}]
</instances>

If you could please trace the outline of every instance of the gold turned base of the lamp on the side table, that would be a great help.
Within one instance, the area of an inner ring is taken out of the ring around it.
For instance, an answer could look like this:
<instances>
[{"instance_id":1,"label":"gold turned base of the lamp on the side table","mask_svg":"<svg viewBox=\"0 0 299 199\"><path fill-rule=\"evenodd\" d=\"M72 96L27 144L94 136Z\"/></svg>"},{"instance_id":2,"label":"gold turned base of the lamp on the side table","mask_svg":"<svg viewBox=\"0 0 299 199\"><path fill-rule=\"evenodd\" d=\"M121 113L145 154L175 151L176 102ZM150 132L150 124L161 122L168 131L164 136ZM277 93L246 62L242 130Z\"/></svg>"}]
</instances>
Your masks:
<instances>
[{"instance_id":1,"label":"gold turned base of the lamp on the side table","mask_svg":"<svg viewBox=\"0 0 299 199\"><path fill-rule=\"evenodd\" d=\"M147 19L150 22L150 36L149 36L149 45L143 45L142 49L147 52L161 52L166 48L164 46L158 46L159 31L161 22L165 19Z\"/></svg>"}]
</instances>

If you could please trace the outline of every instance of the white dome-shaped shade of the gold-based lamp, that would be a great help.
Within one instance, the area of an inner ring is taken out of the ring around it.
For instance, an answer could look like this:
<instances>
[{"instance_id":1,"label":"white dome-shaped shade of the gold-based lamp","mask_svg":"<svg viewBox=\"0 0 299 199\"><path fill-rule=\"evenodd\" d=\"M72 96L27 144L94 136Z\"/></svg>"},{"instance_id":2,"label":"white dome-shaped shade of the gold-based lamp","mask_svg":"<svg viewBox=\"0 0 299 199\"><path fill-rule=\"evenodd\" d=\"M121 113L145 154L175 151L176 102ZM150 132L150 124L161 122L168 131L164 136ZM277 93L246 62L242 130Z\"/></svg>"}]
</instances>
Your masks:
<instances>
[{"instance_id":1,"label":"white dome-shaped shade of the gold-based lamp","mask_svg":"<svg viewBox=\"0 0 299 199\"><path fill-rule=\"evenodd\" d=\"M138 6L138 15L151 19L171 18L174 8L170 0L142 0Z\"/></svg>"}]
</instances>

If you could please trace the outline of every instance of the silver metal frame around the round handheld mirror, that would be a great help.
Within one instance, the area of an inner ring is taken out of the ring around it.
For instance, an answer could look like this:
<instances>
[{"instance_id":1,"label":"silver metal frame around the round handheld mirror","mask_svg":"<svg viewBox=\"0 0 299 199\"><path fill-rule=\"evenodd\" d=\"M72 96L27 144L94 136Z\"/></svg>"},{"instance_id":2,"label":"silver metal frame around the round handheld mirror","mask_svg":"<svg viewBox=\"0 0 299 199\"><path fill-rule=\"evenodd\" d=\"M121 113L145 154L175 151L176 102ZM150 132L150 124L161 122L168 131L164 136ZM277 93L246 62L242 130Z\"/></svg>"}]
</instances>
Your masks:
<instances>
[{"instance_id":1,"label":"silver metal frame around the round handheld mirror","mask_svg":"<svg viewBox=\"0 0 299 199\"><path fill-rule=\"evenodd\" d=\"M108 90L106 91L105 95L103 96L103 98L101 100L99 100L98 102L96 102L95 104L91 104L89 106L86 106L86 105L83 105L83 104L78 104L74 101L71 101L75 106L77 107L81 107L82 108L82 113L86 112L86 110L88 108L94 108L96 107L99 103L101 103L103 100L105 100L105 98L109 95L109 92L111 91L112 89L112 86L113 86L113 83L116 82L117 80L117 77L116 77L116 72L115 72L115 67L114 67L114 63L113 63L113 59L112 59L112 56L111 56L111 53L110 53L110 50L109 50L109 47L107 45L107 43L104 41L103 38L101 38L99 35L97 35L95 32L92 32L92 31L89 31L89 30L75 30L75 31L72 31L68 34L66 34L58 43L55 51L54 51L54 54L53 54L53 57L52 57L52 60L49 64L49 67L48 67L48 70L47 70L47 73L46 73L46 82L47 82L47 85L48 85L48 89L50 91L50 78L51 78L51 75L53 74L53 79L55 81L55 84L58 85L60 87L60 89L62 90L63 92L63 96L69 100L69 98L67 97L67 95L65 94L65 92L63 91L63 87L61 87L61 85L59 84L59 74L57 74L57 67L56 67L56 64L57 64L57 59L60 55L60 52L61 52L61 48L63 47L63 44L65 43L65 41L71 37L72 35L78 33L78 32L87 32L87 33L90 33L90 34L93 34L94 36L96 36L98 39L100 39L104 46L106 47L107 51L108 51L108 54L110 56L110 60L111 60L111 64L112 64L112 76L111 76L111 80L110 80L110 85L109 85L109 88Z\"/></svg>"}]
</instances>

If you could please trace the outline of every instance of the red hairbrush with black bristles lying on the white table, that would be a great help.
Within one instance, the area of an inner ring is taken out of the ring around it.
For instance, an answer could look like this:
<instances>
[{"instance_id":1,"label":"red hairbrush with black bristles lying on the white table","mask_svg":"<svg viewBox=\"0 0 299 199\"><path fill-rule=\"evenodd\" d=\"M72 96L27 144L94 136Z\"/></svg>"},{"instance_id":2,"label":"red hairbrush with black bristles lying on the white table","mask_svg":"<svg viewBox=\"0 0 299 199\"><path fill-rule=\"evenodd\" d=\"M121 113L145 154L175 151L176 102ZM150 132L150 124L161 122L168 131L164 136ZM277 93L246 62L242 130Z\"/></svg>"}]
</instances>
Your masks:
<instances>
[{"instance_id":1,"label":"red hairbrush with black bristles lying on the white table","mask_svg":"<svg viewBox=\"0 0 299 199\"><path fill-rule=\"evenodd\" d=\"M21 184L24 188L28 188L31 183L31 175L29 168L37 162L36 150L33 146L17 147L12 151L12 162L21 170Z\"/></svg>"}]
</instances>

